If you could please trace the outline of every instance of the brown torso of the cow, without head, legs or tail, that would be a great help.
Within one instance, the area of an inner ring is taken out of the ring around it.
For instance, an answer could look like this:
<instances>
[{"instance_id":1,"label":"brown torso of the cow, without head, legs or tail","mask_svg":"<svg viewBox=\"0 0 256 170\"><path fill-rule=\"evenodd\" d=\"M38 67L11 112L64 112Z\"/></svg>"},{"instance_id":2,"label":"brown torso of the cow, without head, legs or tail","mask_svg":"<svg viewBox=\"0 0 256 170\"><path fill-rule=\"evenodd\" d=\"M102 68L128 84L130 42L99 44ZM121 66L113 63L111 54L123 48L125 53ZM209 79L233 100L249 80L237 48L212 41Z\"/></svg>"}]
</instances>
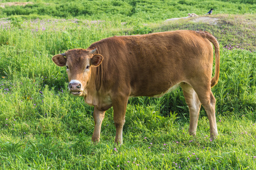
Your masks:
<instances>
[{"instance_id":1,"label":"brown torso of the cow, without head, legs or tail","mask_svg":"<svg viewBox=\"0 0 256 170\"><path fill-rule=\"evenodd\" d=\"M105 88L128 88L131 96L155 96L212 69L212 45L195 31L114 36L89 49L95 47L104 57Z\"/></svg>"}]
</instances>

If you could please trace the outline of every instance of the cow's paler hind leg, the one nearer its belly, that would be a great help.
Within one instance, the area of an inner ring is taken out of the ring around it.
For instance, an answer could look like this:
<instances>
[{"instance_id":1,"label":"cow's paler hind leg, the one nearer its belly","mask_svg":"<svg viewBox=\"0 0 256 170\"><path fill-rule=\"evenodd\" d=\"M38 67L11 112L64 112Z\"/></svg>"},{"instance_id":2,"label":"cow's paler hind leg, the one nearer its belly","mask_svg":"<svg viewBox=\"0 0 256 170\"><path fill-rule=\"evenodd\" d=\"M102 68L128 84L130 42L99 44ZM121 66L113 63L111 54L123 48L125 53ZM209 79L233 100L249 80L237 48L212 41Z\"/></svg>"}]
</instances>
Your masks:
<instances>
[{"instance_id":1,"label":"cow's paler hind leg, the one nearer its belly","mask_svg":"<svg viewBox=\"0 0 256 170\"><path fill-rule=\"evenodd\" d=\"M186 83L181 83L181 87L183 89L185 101L189 107L189 114L190 114L189 134L192 136L195 136L198 117L199 117L199 111L201 108L201 102L198 99L197 93L194 91L194 89L190 85Z\"/></svg>"}]
</instances>

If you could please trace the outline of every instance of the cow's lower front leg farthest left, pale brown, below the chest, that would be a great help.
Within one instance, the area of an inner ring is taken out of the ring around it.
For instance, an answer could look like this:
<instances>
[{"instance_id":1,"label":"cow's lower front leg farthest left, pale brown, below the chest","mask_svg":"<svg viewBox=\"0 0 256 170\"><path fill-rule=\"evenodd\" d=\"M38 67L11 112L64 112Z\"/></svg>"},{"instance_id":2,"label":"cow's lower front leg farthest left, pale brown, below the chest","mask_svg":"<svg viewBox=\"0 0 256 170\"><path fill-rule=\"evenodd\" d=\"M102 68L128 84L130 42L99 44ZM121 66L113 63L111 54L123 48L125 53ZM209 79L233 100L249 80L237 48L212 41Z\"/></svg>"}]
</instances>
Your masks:
<instances>
[{"instance_id":1,"label":"cow's lower front leg farthest left, pale brown, below the chest","mask_svg":"<svg viewBox=\"0 0 256 170\"><path fill-rule=\"evenodd\" d=\"M105 111L100 111L94 106L93 117L94 117L94 131L91 137L93 142L99 142L101 137L101 124L104 119Z\"/></svg>"}]
</instances>

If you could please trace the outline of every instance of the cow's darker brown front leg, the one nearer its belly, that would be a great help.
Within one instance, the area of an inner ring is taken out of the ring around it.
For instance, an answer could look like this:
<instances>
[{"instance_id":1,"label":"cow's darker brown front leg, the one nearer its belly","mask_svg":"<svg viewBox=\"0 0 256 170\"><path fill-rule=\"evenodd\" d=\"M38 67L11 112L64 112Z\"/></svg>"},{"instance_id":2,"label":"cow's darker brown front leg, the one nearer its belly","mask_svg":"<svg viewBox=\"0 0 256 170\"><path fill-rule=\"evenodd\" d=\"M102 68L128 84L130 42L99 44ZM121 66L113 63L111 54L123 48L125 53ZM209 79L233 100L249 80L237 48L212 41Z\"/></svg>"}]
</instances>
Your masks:
<instances>
[{"instance_id":1,"label":"cow's darker brown front leg, the one nearer its belly","mask_svg":"<svg viewBox=\"0 0 256 170\"><path fill-rule=\"evenodd\" d=\"M128 103L128 97L121 97L113 100L113 110L114 110L114 122L116 127L116 144L123 144L123 126L125 123L125 113Z\"/></svg>"}]
</instances>

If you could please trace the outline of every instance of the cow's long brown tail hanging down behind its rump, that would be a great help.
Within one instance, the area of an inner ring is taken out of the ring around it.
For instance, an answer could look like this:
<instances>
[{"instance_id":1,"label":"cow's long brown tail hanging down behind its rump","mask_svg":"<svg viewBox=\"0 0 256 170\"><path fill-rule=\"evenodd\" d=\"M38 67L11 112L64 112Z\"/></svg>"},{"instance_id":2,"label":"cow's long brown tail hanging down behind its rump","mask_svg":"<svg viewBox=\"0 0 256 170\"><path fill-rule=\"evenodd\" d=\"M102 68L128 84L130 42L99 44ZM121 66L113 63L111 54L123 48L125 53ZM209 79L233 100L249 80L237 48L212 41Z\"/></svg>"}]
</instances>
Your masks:
<instances>
[{"instance_id":1,"label":"cow's long brown tail hanging down behind its rump","mask_svg":"<svg viewBox=\"0 0 256 170\"><path fill-rule=\"evenodd\" d=\"M217 85L218 81L219 81L219 42L216 40L216 38L206 32L206 31L199 31L199 33L205 37L206 39L208 39L214 46L214 50L215 50L215 75L211 78L210 81L210 86L213 87L214 85Z\"/></svg>"}]
</instances>

